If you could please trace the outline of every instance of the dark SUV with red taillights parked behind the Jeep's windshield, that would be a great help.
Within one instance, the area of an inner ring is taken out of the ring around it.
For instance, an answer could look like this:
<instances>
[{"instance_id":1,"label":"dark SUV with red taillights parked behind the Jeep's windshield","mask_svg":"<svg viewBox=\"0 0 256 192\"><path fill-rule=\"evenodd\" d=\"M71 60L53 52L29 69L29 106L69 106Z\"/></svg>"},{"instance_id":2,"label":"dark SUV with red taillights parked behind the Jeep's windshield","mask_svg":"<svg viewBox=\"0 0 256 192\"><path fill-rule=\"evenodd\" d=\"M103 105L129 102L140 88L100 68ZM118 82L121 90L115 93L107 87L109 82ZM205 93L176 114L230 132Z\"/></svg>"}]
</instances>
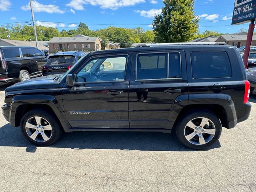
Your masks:
<instances>
[{"instance_id":1,"label":"dark SUV with red taillights parked behind the Jeep's windshield","mask_svg":"<svg viewBox=\"0 0 256 192\"><path fill-rule=\"evenodd\" d=\"M82 51L58 52L49 56L46 64L42 68L42 74L52 75L60 74L69 70L75 62L86 54Z\"/></svg>"}]
</instances>

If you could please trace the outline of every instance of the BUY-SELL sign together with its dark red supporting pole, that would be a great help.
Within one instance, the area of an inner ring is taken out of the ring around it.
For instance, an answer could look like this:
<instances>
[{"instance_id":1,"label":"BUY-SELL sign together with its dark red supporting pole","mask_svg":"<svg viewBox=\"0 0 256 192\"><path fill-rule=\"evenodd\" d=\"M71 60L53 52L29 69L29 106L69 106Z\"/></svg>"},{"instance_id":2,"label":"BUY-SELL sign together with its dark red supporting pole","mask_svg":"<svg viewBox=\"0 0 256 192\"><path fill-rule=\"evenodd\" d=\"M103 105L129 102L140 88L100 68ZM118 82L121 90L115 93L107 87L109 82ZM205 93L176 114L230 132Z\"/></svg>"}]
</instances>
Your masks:
<instances>
[{"instance_id":1,"label":"BUY-SELL sign together with its dark red supporting pole","mask_svg":"<svg viewBox=\"0 0 256 192\"><path fill-rule=\"evenodd\" d=\"M232 25L251 22L247 34L246 46L244 50L244 67L247 69L250 46L255 28L256 19L256 0L235 0Z\"/></svg>"}]
</instances>

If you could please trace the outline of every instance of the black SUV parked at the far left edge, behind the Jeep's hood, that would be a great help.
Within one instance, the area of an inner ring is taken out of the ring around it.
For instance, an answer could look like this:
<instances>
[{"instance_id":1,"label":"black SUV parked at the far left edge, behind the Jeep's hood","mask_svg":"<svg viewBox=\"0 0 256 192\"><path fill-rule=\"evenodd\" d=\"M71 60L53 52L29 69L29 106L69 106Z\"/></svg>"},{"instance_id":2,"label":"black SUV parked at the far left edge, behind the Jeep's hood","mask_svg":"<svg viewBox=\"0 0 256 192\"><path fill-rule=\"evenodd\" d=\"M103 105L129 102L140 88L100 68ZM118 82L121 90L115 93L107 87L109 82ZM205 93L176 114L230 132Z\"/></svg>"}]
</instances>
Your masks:
<instances>
[{"instance_id":1,"label":"black SUV parked at the far left edge, behind the Jeep's hood","mask_svg":"<svg viewBox=\"0 0 256 192\"><path fill-rule=\"evenodd\" d=\"M30 46L0 46L0 83L24 81L42 75L44 53Z\"/></svg>"}]
</instances>

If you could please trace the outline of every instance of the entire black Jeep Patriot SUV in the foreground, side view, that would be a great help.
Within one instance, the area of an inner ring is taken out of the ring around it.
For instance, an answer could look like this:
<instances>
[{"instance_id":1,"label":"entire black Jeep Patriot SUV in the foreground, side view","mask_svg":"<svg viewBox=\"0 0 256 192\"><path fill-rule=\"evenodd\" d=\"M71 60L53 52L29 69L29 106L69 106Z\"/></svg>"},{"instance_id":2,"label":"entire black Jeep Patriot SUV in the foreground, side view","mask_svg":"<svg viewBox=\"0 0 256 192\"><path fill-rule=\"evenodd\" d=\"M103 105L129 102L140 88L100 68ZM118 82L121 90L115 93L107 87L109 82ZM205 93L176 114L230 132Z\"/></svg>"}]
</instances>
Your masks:
<instances>
[{"instance_id":1,"label":"entire black Jeep Patriot SUV in the foreground, side view","mask_svg":"<svg viewBox=\"0 0 256 192\"><path fill-rule=\"evenodd\" d=\"M143 44L91 52L65 74L8 88L2 113L33 144L72 131L175 130L204 149L250 115L238 49L223 43Z\"/></svg>"}]
</instances>

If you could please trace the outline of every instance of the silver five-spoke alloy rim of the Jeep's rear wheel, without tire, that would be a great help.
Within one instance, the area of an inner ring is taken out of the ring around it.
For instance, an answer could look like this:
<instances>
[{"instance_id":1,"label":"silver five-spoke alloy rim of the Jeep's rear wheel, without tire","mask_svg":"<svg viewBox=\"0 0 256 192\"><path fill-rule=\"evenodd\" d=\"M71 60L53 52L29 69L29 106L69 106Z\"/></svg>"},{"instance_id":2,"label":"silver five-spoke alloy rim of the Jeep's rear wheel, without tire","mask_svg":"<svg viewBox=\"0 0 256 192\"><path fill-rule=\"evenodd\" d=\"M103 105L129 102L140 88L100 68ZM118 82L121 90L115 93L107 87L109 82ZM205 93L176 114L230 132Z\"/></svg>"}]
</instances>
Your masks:
<instances>
[{"instance_id":1,"label":"silver five-spoke alloy rim of the Jeep's rear wheel, without tire","mask_svg":"<svg viewBox=\"0 0 256 192\"><path fill-rule=\"evenodd\" d=\"M210 142L215 132L215 125L210 119L205 117L190 120L184 129L186 140L195 145L203 145Z\"/></svg>"}]
</instances>

